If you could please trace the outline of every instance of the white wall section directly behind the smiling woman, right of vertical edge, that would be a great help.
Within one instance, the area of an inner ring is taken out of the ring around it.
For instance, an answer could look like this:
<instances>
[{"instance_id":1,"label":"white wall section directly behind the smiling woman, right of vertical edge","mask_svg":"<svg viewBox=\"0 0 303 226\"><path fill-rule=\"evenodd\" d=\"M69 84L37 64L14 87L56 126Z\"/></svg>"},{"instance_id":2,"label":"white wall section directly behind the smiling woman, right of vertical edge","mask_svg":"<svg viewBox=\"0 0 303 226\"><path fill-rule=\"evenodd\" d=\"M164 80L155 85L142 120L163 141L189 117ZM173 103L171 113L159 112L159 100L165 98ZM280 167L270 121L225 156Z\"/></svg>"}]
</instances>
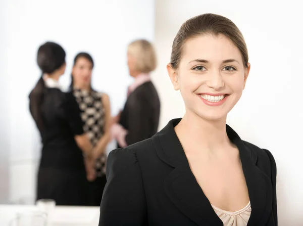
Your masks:
<instances>
[{"instance_id":1,"label":"white wall section directly behind the smiling woman, right of vertical edge","mask_svg":"<svg viewBox=\"0 0 303 226\"><path fill-rule=\"evenodd\" d=\"M269 149L277 163L279 225L302 225L303 157L301 86L303 34L300 3L294 0L156 0L155 41L159 67L154 81L162 99L160 128L182 117L181 96L166 72L175 34L186 19L216 13L231 19L247 42L251 71L228 123L243 140Z\"/></svg>"}]
</instances>

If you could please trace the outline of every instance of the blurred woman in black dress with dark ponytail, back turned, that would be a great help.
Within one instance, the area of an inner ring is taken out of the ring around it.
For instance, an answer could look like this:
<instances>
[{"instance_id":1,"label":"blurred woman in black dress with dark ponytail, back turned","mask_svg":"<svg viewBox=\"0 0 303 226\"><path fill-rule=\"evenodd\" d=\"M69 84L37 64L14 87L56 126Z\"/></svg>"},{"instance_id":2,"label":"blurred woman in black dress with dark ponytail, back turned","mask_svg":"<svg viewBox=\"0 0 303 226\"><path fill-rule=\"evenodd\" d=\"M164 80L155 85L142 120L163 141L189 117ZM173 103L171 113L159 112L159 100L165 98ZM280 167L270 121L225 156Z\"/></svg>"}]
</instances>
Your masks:
<instances>
[{"instance_id":1,"label":"blurred woman in black dress with dark ponytail, back turned","mask_svg":"<svg viewBox=\"0 0 303 226\"><path fill-rule=\"evenodd\" d=\"M29 95L30 113L43 144L37 199L54 199L57 205L85 205L83 153L91 156L92 146L83 131L75 98L60 90L58 80L65 72L65 55L54 42L39 47L37 63L42 75Z\"/></svg>"}]
</instances>

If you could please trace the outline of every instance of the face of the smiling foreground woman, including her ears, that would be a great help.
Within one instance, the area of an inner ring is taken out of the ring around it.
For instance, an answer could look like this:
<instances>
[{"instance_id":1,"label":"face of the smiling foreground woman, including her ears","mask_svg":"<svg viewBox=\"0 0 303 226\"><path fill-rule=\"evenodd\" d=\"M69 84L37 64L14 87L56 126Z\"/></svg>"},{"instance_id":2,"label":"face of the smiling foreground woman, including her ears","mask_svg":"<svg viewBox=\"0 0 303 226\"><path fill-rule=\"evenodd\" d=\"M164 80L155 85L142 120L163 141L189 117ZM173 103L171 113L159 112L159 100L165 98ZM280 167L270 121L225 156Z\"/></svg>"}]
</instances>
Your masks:
<instances>
[{"instance_id":1,"label":"face of the smiling foreground woman, including her ears","mask_svg":"<svg viewBox=\"0 0 303 226\"><path fill-rule=\"evenodd\" d=\"M186 112L206 120L226 119L239 101L249 73L232 41L223 35L201 35L187 40L179 68L167 66Z\"/></svg>"}]
</instances>

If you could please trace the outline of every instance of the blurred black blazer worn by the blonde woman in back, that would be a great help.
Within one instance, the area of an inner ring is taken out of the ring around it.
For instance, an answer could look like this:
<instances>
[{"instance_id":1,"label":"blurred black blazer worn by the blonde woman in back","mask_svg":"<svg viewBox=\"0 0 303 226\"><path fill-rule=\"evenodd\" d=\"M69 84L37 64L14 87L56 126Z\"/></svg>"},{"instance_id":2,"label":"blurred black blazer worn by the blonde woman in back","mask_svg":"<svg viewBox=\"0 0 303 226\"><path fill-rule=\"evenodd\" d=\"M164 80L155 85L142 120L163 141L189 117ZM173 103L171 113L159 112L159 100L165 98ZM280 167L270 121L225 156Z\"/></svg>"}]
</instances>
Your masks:
<instances>
[{"instance_id":1,"label":"blurred black blazer worn by the blonde woman in back","mask_svg":"<svg viewBox=\"0 0 303 226\"><path fill-rule=\"evenodd\" d=\"M158 93L151 81L145 82L129 95L121 113L119 123L128 130L127 145L153 137L158 130L159 117Z\"/></svg>"}]
</instances>

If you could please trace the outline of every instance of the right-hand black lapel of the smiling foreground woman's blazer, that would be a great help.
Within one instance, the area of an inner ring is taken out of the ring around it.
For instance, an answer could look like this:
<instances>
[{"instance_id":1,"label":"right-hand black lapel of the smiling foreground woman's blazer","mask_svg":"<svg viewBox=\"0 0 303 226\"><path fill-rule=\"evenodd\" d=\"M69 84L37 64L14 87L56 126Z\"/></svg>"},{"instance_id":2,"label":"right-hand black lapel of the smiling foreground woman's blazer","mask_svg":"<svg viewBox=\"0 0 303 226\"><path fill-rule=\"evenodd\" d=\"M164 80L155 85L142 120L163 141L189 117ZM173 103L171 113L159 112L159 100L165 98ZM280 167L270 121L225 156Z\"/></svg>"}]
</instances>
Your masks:
<instances>
[{"instance_id":1,"label":"right-hand black lapel of the smiling foreground woman's blazer","mask_svg":"<svg viewBox=\"0 0 303 226\"><path fill-rule=\"evenodd\" d=\"M229 139L238 147L242 162L251 205L248 226L266 225L271 213L273 190L270 178L257 166L257 147L244 143L238 134L228 125L226 130Z\"/></svg>"}]
</instances>

